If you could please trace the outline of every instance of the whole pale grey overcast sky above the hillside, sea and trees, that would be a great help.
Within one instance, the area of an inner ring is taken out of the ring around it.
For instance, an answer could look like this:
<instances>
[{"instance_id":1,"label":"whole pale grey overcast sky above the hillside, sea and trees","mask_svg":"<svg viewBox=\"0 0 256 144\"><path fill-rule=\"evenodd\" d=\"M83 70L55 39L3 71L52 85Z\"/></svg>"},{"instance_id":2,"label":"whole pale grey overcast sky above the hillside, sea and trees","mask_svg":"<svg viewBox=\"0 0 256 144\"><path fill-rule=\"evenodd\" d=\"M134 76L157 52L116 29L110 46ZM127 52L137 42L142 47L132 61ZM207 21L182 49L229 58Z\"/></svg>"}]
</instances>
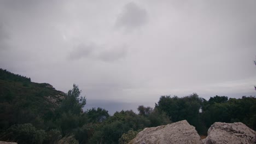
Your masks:
<instances>
[{"instance_id":1,"label":"whole pale grey overcast sky above the hillside, sea and trees","mask_svg":"<svg viewBox=\"0 0 256 144\"><path fill-rule=\"evenodd\" d=\"M0 67L89 99L256 95L256 1L0 1Z\"/></svg>"}]
</instances>

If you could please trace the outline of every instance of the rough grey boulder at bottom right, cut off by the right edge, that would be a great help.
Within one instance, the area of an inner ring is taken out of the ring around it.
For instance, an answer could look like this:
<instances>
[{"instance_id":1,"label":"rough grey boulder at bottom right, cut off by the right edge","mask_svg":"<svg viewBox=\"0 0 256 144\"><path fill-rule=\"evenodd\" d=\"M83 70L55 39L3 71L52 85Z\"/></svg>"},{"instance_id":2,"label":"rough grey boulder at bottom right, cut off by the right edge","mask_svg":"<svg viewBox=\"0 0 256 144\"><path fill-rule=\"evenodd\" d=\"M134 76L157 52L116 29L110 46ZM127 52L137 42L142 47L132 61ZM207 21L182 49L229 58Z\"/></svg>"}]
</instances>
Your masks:
<instances>
[{"instance_id":1,"label":"rough grey boulder at bottom right, cut off by the right edge","mask_svg":"<svg viewBox=\"0 0 256 144\"><path fill-rule=\"evenodd\" d=\"M214 123L208 129L205 144L219 143L256 143L256 133L243 123Z\"/></svg>"}]
</instances>

